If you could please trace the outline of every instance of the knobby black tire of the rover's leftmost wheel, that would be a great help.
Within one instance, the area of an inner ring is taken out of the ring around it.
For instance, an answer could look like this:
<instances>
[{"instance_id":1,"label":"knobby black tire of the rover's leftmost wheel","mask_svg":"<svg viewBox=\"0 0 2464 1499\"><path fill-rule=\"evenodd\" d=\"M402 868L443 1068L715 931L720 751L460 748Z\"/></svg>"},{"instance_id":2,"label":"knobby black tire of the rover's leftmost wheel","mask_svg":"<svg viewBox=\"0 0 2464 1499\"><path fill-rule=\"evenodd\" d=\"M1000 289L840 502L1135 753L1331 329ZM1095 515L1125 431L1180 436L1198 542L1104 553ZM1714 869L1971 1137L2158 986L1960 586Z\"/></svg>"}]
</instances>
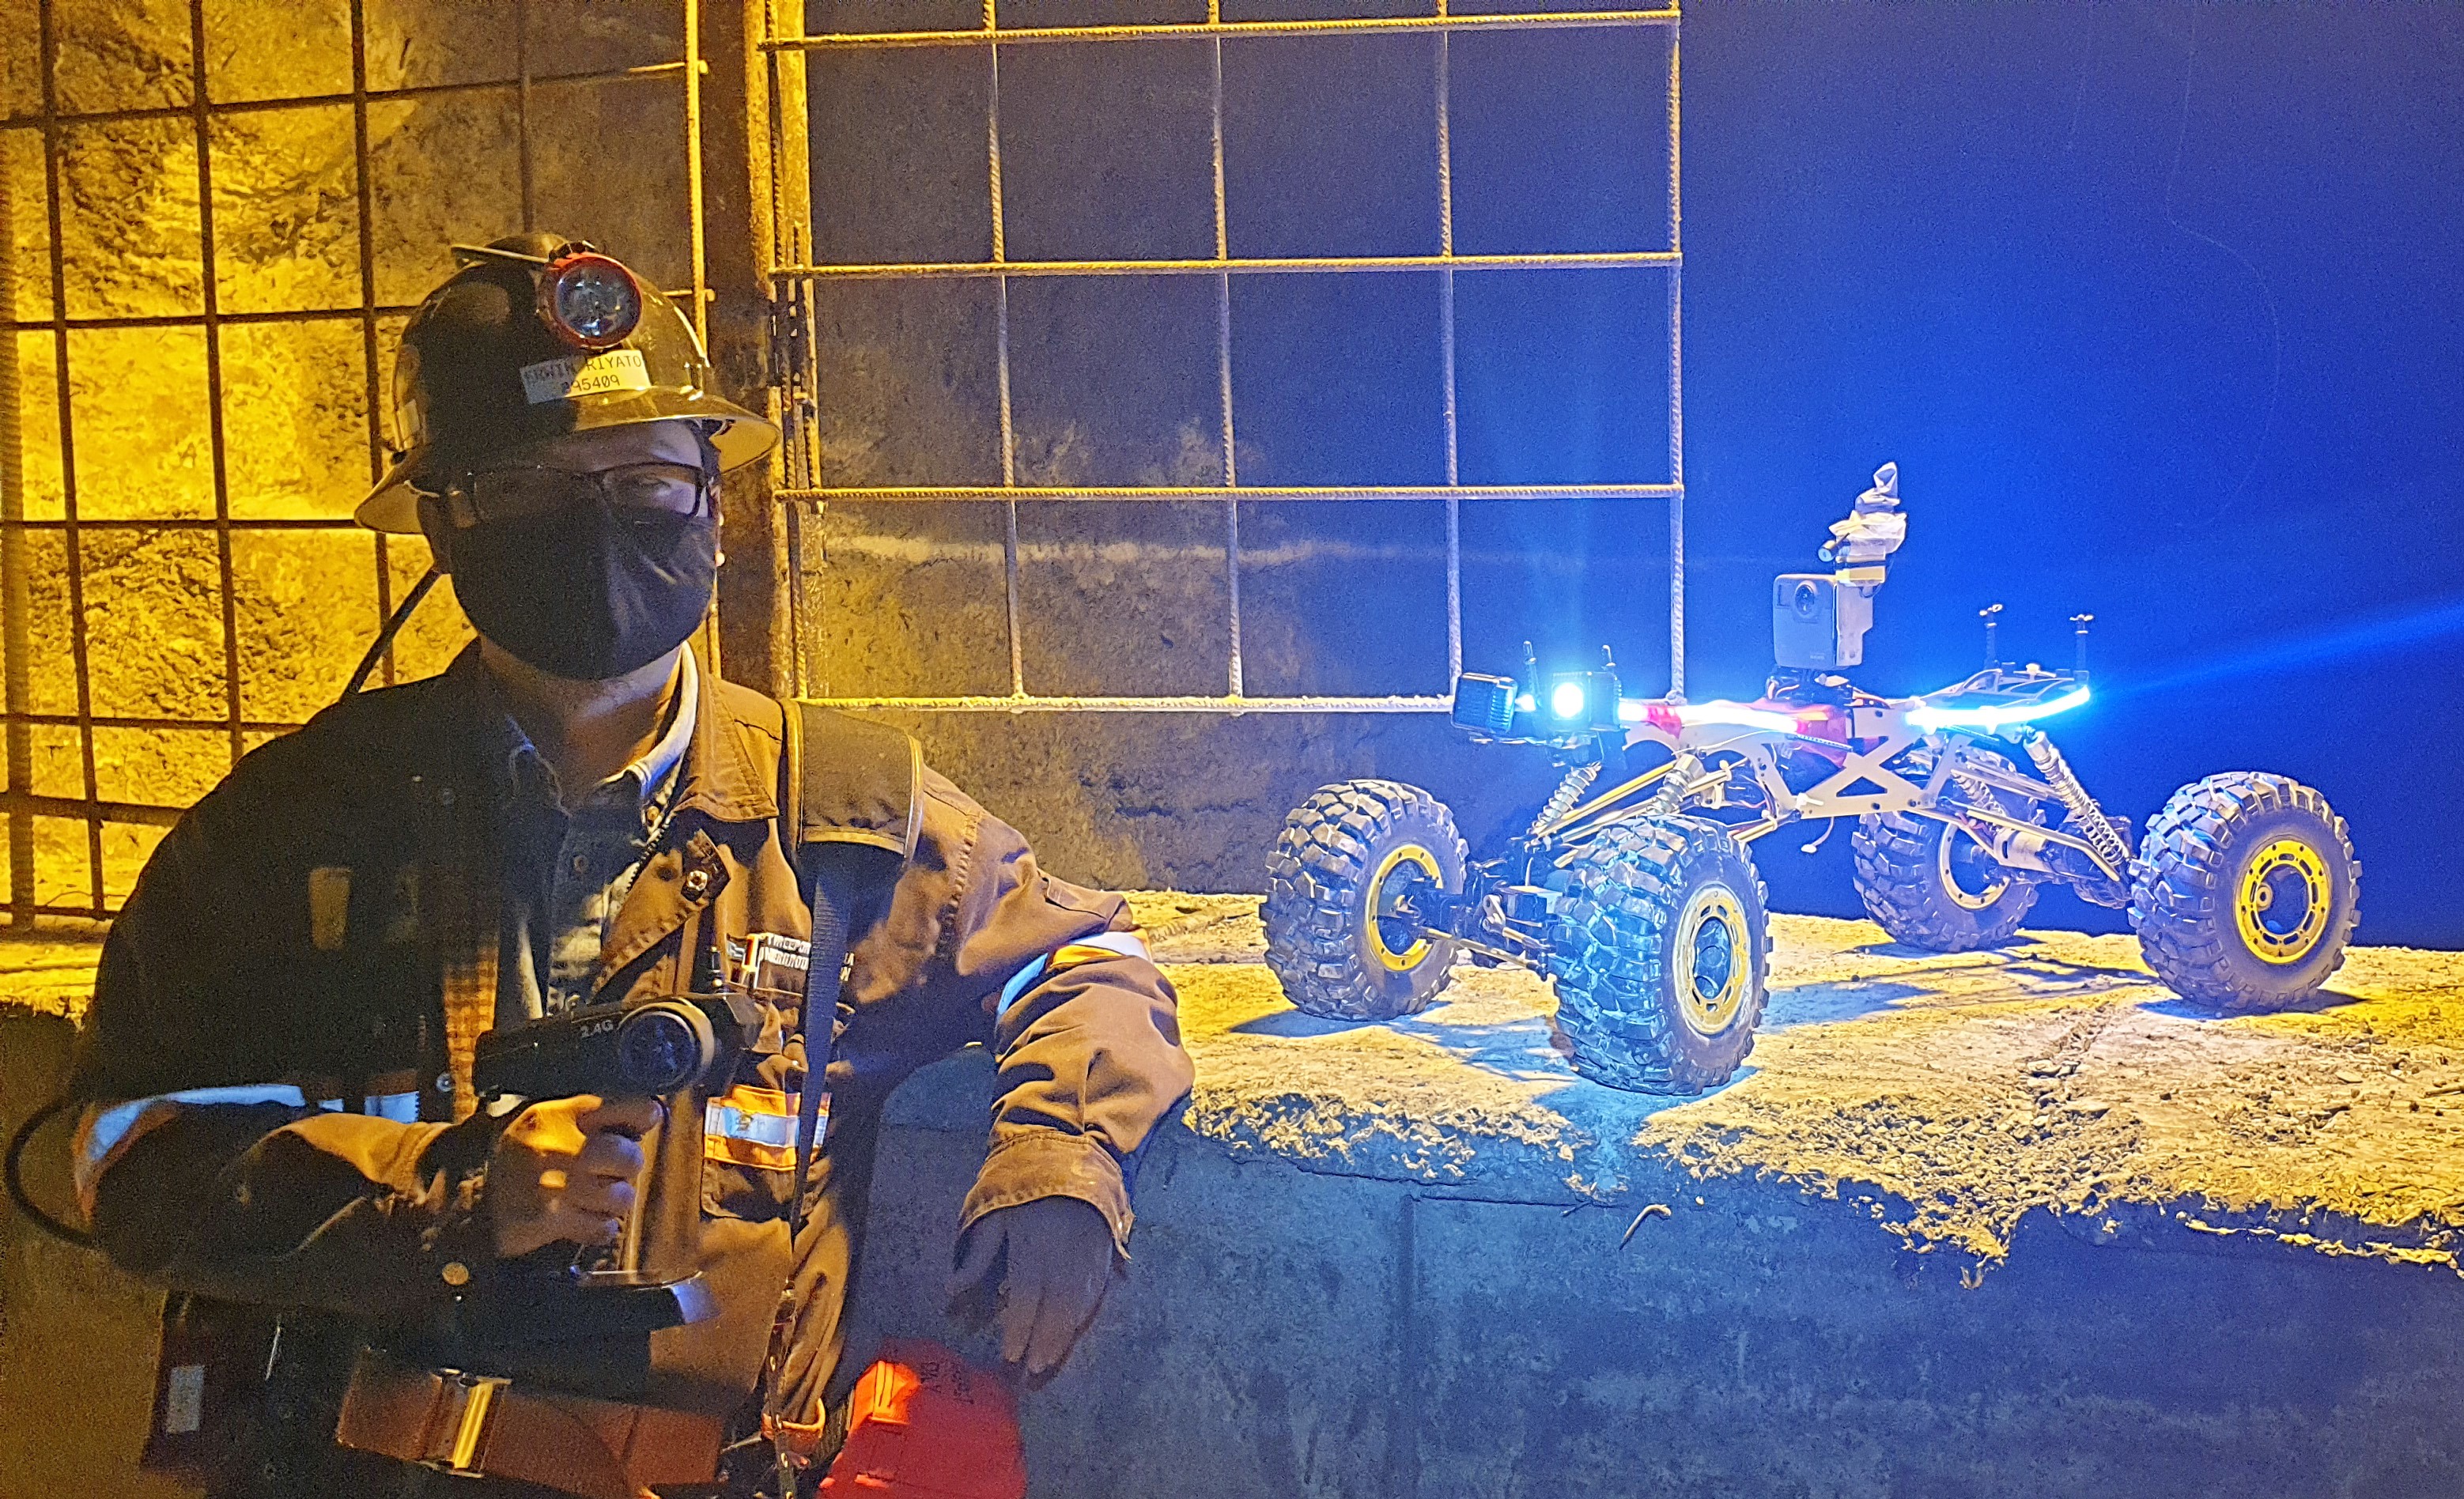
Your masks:
<instances>
[{"instance_id":1,"label":"knobby black tire of the rover's leftmost wheel","mask_svg":"<svg viewBox=\"0 0 2464 1499\"><path fill-rule=\"evenodd\" d=\"M1402 843L1437 858L1449 892L1464 888L1464 836L1446 804L1419 786L1338 782L1284 819L1266 858L1266 966L1303 1013L1392 1021L1427 1008L1446 986L1451 937L1429 939L1429 952L1404 971L1377 962L1370 944L1368 883Z\"/></svg>"}]
</instances>

